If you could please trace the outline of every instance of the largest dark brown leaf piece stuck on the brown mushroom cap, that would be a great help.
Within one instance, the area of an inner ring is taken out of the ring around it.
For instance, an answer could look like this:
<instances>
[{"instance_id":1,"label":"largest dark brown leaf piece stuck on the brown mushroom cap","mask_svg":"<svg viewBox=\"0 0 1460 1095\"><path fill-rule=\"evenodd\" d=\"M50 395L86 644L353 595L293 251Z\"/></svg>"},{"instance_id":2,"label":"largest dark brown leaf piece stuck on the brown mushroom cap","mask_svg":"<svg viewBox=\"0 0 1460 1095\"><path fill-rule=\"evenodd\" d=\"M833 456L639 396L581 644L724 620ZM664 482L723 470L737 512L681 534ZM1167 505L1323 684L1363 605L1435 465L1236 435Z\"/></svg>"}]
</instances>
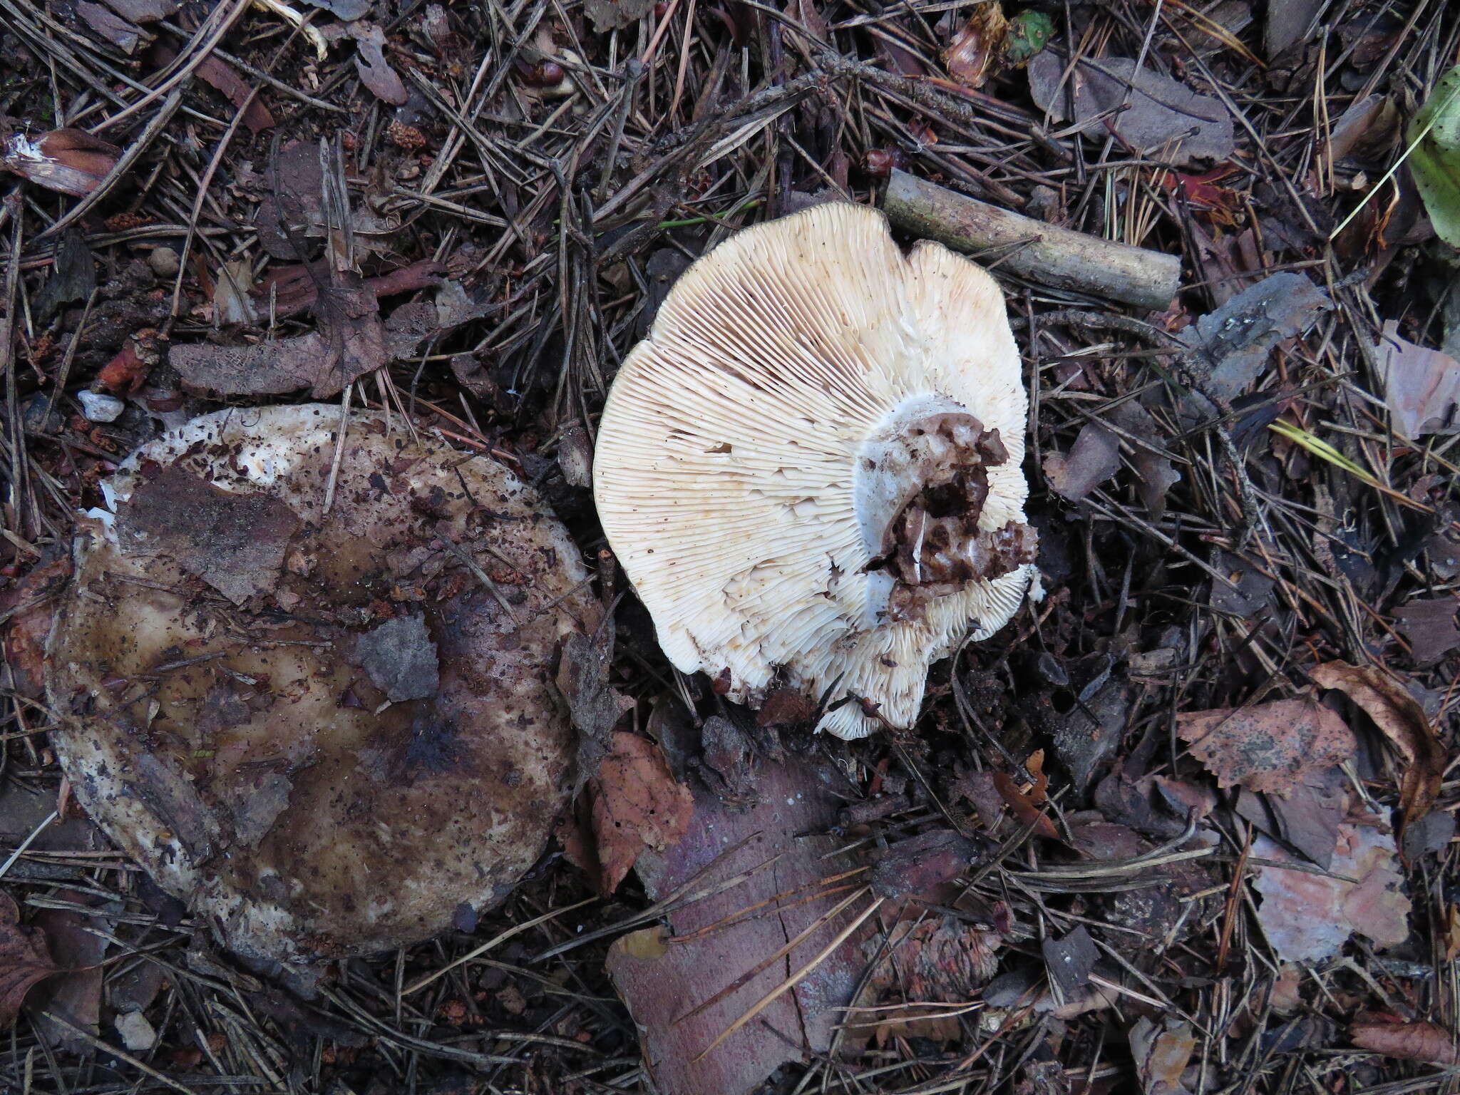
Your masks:
<instances>
[{"instance_id":1,"label":"largest dark brown leaf piece stuck on the brown mushroom cap","mask_svg":"<svg viewBox=\"0 0 1460 1095\"><path fill-rule=\"evenodd\" d=\"M242 604L277 583L299 517L277 498L223 491L174 464L118 504L117 530L128 550L168 553Z\"/></svg>"}]
</instances>

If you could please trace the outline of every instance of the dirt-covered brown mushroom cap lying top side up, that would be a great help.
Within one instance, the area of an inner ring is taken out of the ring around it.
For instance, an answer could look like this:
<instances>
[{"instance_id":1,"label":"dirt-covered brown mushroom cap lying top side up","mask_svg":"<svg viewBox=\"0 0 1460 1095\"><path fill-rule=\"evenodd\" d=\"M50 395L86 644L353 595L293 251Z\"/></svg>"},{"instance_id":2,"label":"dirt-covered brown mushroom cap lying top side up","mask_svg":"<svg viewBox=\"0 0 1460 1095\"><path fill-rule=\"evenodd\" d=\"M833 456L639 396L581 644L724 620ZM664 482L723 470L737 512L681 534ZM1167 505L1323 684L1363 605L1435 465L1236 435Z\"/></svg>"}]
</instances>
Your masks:
<instances>
[{"instance_id":1,"label":"dirt-covered brown mushroom cap lying top side up","mask_svg":"<svg viewBox=\"0 0 1460 1095\"><path fill-rule=\"evenodd\" d=\"M207 415L104 485L47 658L86 810L241 953L339 958L496 904L571 787L596 623L562 526L397 418ZM470 561L470 565L466 564Z\"/></svg>"}]
</instances>

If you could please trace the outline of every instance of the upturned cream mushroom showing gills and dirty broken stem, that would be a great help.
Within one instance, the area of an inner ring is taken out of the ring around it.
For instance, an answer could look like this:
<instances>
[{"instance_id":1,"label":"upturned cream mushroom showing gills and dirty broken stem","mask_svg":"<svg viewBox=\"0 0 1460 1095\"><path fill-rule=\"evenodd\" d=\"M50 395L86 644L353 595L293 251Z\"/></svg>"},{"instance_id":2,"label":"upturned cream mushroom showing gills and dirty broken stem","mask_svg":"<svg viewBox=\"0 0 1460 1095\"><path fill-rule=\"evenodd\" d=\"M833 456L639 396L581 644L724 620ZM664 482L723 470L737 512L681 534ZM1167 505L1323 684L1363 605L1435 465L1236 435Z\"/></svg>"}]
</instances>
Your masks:
<instances>
[{"instance_id":1,"label":"upturned cream mushroom showing gills and dirty broken stem","mask_svg":"<svg viewBox=\"0 0 1460 1095\"><path fill-rule=\"evenodd\" d=\"M1026 396L999 286L834 203L691 266L613 381L594 499L682 672L908 727L1028 587Z\"/></svg>"}]
</instances>

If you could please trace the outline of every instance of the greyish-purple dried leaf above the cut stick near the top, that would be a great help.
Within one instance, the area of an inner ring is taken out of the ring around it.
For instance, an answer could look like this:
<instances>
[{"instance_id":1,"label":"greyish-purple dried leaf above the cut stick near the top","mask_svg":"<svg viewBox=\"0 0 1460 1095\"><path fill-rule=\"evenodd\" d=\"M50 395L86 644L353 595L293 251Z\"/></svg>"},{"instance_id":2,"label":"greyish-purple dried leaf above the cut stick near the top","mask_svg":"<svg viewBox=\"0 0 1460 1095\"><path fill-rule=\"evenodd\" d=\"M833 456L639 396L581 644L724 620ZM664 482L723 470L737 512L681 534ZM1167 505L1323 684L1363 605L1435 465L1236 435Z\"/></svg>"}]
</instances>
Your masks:
<instances>
[{"instance_id":1,"label":"greyish-purple dried leaf above the cut stick near the top","mask_svg":"<svg viewBox=\"0 0 1460 1095\"><path fill-rule=\"evenodd\" d=\"M1029 61L1034 101L1061 120L1070 118L1070 89L1063 82L1067 64L1067 54L1054 47ZM1169 76L1137 69L1127 57L1080 57L1069 80L1075 120L1089 124L1092 136L1104 137L1108 126L1132 150L1174 164L1232 155L1232 117L1222 101L1197 95ZM1127 98L1130 108L1123 111Z\"/></svg>"}]
</instances>

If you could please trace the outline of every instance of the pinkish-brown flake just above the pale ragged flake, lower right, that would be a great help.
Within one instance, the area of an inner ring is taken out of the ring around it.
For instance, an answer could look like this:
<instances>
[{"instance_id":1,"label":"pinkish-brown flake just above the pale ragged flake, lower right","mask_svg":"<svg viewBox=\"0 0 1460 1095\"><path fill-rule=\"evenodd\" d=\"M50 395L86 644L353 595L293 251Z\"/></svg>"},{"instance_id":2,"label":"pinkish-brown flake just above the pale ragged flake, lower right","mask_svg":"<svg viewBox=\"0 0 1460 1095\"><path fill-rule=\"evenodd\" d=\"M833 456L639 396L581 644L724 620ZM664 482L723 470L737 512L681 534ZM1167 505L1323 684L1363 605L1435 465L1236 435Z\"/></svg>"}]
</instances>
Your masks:
<instances>
[{"instance_id":1,"label":"pinkish-brown flake just above the pale ragged flake, lower right","mask_svg":"<svg viewBox=\"0 0 1460 1095\"><path fill-rule=\"evenodd\" d=\"M1311 696L1177 715L1177 734L1218 787L1285 793L1304 774L1342 764L1358 740L1337 714Z\"/></svg>"}]
</instances>

